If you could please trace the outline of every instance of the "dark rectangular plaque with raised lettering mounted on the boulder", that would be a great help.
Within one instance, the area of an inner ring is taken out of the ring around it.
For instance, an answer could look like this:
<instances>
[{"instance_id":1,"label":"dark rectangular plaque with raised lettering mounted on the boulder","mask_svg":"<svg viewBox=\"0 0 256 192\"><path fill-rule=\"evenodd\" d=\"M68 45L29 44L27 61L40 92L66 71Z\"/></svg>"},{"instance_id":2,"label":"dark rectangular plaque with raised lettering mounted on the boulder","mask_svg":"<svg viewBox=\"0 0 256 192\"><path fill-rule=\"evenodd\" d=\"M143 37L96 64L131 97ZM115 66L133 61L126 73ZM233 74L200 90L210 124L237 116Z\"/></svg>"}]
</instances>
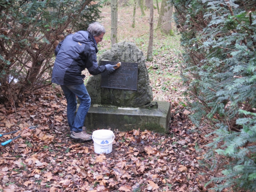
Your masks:
<instances>
[{"instance_id":1,"label":"dark rectangular plaque with raised lettering mounted on the boulder","mask_svg":"<svg viewBox=\"0 0 256 192\"><path fill-rule=\"evenodd\" d=\"M101 61L102 65L116 65L118 61ZM138 63L121 62L113 73L101 73L101 87L113 89L137 90Z\"/></svg>"}]
</instances>

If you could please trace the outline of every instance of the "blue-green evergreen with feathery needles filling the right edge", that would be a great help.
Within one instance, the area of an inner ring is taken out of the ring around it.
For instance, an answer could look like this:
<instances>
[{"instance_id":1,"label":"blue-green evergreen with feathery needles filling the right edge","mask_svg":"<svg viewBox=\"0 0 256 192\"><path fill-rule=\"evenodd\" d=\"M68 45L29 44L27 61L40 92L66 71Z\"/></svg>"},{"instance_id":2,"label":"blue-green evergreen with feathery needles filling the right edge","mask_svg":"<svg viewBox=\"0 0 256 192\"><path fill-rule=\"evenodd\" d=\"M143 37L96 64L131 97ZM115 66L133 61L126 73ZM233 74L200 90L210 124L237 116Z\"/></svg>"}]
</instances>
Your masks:
<instances>
[{"instance_id":1,"label":"blue-green evergreen with feathery needles filling the right edge","mask_svg":"<svg viewBox=\"0 0 256 192\"><path fill-rule=\"evenodd\" d=\"M194 111L190 118L214 129L201 165L222 170L222 177L212 179L215 191L255 191L256 2L172 3L182 34L182 77Z\"/></svg>"}]
</instances>

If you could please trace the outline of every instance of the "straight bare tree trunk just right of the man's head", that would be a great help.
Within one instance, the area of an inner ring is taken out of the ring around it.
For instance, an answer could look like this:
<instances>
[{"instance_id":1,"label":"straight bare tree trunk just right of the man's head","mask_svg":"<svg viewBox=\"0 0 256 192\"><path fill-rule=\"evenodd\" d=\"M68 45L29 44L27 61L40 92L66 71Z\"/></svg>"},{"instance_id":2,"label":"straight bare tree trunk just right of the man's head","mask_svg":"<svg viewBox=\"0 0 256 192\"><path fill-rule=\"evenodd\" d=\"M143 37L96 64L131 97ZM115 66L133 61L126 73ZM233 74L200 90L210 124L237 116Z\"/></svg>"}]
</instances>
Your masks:
<instances>
[{"instance_id":1,"label":"straight bare tree trunk just right of the man's head","mask_svg":"<svg viewBox=\"0 0 256 192\"><path fill-rule=\"evenodd\" d=\"M111 0L111 45L117 41L117 5L118 0Z\"/></svg>"}]
</instances>

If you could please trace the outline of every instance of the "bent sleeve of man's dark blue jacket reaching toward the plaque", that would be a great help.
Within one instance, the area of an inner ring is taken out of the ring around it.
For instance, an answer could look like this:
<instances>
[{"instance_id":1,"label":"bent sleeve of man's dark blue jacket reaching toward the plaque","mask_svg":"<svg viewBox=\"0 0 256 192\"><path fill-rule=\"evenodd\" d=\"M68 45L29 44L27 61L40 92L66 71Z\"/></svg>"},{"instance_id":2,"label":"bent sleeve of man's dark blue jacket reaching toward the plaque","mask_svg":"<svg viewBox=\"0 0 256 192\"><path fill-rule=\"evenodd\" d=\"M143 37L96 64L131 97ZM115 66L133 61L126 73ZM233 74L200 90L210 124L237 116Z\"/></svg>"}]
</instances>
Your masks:
<instances>
[{"instance_id":1,"label":"bent sleeve of man's dark blue jacket reaching toward the plaque","mask_svg":"<svg viewBox=\"0 0 256 192\"><path fill-rule=\"evenodd\" d=\"M86 59L86 68L91 75L98 75L103 73L106 70L106 67L99 66L97 62L97 55L95 51L95 47L90 44L86 44L85 52L87 53Z\"/></svg>"}]
</instances>

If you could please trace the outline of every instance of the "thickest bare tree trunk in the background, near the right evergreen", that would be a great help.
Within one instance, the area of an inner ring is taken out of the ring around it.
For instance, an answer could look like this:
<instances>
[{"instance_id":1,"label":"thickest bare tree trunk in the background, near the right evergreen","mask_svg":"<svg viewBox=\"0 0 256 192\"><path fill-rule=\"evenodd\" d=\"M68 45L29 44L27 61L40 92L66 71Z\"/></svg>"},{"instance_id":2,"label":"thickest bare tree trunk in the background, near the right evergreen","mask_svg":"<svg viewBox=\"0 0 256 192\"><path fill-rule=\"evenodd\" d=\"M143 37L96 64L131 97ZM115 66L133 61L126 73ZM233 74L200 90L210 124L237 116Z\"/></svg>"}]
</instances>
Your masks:
<instances>
[{"instance_id":1,"label":"thickest bare tree trunk in the background, near the right evergreen","mask_svg":"<svg viewBox=\"0 0 256 192\"><path fill-rule=\"evenodd\" d=\"M164 23L172 19L173 6L170 3L167 3L168 0L162 0L159 19L157 27L163 25ZM172 22L168 22L165 25L161 26L163 33L169 35L172 33Z\"/></svg>"}]
</instances>

